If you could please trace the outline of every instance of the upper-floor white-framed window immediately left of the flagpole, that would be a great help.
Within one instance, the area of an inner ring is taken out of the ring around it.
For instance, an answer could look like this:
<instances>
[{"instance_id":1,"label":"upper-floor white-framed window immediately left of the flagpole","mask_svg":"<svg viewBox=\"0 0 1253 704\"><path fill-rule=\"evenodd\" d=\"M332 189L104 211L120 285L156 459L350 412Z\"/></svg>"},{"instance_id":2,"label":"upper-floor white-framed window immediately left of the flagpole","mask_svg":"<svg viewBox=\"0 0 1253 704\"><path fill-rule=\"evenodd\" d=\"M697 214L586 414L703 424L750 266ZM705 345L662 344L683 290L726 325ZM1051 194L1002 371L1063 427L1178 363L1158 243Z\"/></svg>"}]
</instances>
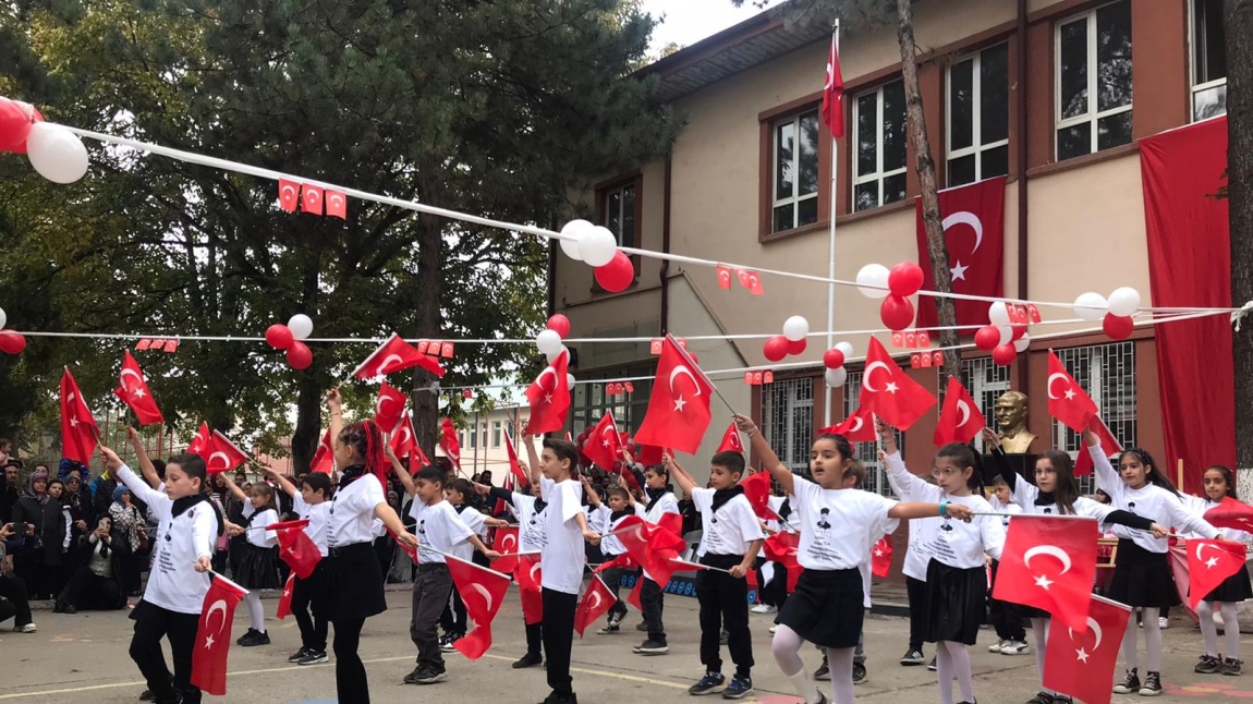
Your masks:
<instances>
[{"instance_id":1,"label":"upper-floor white-framed window immediately left of the flagpole","mask_svg":"<svg viewBox=\"0 0 1253 704\"><path fill-rule=\"evenodd\" d=\"M774 123L774 198L771 232L818 222L818 111Z\"/></svg>"}]
</instances>

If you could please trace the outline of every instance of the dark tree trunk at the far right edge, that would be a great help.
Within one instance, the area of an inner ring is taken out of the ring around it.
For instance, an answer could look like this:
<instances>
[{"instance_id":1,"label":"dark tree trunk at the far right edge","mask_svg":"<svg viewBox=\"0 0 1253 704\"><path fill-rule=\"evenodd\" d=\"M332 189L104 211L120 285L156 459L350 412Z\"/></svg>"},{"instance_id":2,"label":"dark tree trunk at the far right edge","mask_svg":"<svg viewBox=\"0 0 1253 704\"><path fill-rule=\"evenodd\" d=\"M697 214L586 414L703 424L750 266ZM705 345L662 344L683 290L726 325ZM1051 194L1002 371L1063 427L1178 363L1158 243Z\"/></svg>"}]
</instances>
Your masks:
<instances>
[{"instance_id":1,"label":"dark tree trunk at the far right edge","mask_svg":"<svg viewBox=\"0 0 1253 704\"><path fill-rule=\"evenodd\" d=\"M1230 208L1232 303L1253 301L1253 1L1223 4L1227 44L1227 193ZM1233 334L1235 427L1253 427L1253 321ZM1253 433L1235 433L1235 482L1240 496L1253 489Z\"/></svg>"}]
</instances>

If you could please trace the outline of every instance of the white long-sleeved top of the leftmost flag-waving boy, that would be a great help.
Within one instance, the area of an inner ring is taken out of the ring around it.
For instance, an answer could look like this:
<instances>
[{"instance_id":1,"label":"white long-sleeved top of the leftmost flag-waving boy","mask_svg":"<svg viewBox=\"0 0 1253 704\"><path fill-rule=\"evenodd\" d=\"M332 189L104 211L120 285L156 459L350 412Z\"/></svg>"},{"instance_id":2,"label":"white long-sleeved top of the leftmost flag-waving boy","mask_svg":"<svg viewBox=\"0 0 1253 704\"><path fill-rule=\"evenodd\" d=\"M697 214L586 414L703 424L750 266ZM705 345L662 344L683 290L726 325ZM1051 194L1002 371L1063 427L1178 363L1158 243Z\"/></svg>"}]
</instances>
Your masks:
<instances>
[{"instance_id":1,"label":"white long-sleeved top of the leftmost flag-waving boy","mask_svg":"<svg viewBox=\"0 0 1253 704\"><path fill-rule=\"evenodd\" d=\"M144 601L178 614L199 614L209 591L209 574L195 571L195 561L213 557L213 541L218 536L213 505L202 501L174 517L174 501L153 491L130 467L123 465L114 476L135 499L147 504L158 520Z\"/></svg>"}]
</instances>

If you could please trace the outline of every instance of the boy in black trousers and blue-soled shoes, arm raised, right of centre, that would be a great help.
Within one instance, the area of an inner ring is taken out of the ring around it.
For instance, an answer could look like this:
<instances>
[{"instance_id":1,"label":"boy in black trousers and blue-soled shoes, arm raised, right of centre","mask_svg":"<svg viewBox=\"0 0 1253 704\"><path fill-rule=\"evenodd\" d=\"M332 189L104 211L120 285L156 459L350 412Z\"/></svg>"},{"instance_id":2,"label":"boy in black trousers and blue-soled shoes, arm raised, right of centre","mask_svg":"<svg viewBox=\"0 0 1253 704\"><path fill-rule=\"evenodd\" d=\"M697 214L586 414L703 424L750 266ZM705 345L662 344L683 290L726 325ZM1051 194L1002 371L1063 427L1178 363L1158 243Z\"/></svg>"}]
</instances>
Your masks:
<instances>
[{"instance_id":1,"label":"boy in black trousers and blue-soled shoes, arm raised, right of centre","mask_svg":"<svg viewBox=\"0 0 1253 704\"><path fill-rule=\"evenodd\" d=\"M704 530L697 560L714 570L697 572L697 601L700 604L700 663L705 675L688 688L689 694L722 691L723 699L743 699L753 690L753 640L748 631L748 582L744 575L753 567L753 557L766 536L757 521L752 504L739 486L744 474L744 455L718 452L709 461L709 482L713 489L700 489L692 475L674 457L665 453L662 462L674 474L683 492L700 511ZM722 674L719 638L725 626L727 646L736 663L730 684Z\"/></svg>"}]
</instances>

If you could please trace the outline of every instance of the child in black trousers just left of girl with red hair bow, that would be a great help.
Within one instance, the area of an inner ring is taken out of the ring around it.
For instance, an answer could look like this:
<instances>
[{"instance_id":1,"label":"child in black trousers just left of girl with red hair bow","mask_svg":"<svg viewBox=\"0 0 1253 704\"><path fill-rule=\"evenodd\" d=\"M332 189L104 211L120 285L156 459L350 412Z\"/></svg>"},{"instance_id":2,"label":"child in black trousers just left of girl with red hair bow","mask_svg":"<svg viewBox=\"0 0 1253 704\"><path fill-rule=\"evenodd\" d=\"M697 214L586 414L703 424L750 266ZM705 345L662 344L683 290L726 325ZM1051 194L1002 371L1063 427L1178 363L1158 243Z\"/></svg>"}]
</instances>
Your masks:
<instances>
[{"instance_id":1,"label":"child in black trousers just left of girl with red hair bow","mask_svg":"<svg viewBox=\"0 0 1253 704\"><path fill-rule=\"evenodd\" d=\"M313 574L308 577L296 577L292 588L292 616L301 629L301 649L287 658L288 663L297 665L316 665L326 663L326 539L327 527L331 519L331 476L321 472L308 472L301 477L301 490L279 475L272 467L266 468L266 474L278 484L283 494L292 497L292 510L301 519L308 519L304 526L304 535L317 545L317 551L322 555ZM311 609L312 606L312 609ZM309 611L313 616L309 618Z\"/></svg>"}]
</instances>

